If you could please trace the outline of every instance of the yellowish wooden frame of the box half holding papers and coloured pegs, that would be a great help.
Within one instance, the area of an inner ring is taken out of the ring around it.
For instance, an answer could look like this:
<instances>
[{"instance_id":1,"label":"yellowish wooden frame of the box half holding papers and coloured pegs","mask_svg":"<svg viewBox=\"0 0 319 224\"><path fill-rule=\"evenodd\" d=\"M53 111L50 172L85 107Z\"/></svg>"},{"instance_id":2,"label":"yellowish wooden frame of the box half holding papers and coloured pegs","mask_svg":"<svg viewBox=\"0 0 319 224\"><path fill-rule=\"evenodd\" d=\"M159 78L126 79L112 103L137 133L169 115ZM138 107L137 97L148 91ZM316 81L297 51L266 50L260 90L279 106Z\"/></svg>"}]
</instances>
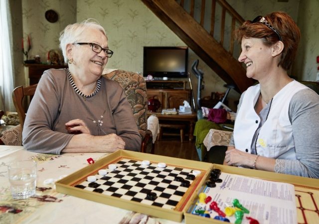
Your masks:
<instances>
[{"instance_id":1,"label":"yellowish wooden frame of the box half holding papers and coloured pegs","mask_svg":"<svg viewBox=\"0 0 319 224\"><path fill-rule=\"evenodd\" d=\"M318 208L319 204L319 179L314 178L306 178L306 177L299 177L294 175L287 175L287 174L279 174L261 170L253 170L253 169L245 169L245 168L238 168L232 166L224 166L219 164L213 164L213 169L220 169L221 172L229 173L229 174L237 174L257 179L263 179L268 181L276 181L276 182L283 182L293 184L295 186L295 194L300 194L300 192L311 192L314 199L317 200L307 200L307 203L314 204L317 203L316 206ZM207 179L209 177L206 177ZM205 181L202 182L203 185L201 188L198 188L196 193L192 195L190 199L191 203L189 204L188 210L184 213L185 217L185 224L225 224L222 221L208 219L200 216L196 216L191 214L191 210L194 207L195 203L198 201L198 194L202 192L203 187L205 185ZM313 201L314 200L314 201ZM296 201L297 206L297 221L298 223L303 224L316 224L318 223L319 215L316 212L313 212L314 215L310 215L304 213L299 207L302 207L298 201ZM315 207L315 206L314 206Z\"/></svg>"}]
</instances>

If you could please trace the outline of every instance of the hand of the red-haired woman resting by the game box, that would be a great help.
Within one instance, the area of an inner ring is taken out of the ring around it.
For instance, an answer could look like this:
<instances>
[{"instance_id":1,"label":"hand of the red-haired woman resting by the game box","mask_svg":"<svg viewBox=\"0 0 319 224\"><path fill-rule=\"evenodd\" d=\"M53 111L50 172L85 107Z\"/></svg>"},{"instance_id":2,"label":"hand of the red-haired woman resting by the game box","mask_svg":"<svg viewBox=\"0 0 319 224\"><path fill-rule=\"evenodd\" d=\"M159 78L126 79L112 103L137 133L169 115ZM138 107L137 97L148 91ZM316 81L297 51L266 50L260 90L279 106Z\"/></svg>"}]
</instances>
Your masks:
<instances>
[{"instance_id":1,"label":"hand of the red-haired woman resting by the game box","mask_svg":"<svg viewBox=\"0 0 319 224\"><path fill-rule=\"evenodd\" d=\"M224 162L229 166L249 166L250 154L242 152L238 149L228 148Z\"/></svg>"}]
</instances>

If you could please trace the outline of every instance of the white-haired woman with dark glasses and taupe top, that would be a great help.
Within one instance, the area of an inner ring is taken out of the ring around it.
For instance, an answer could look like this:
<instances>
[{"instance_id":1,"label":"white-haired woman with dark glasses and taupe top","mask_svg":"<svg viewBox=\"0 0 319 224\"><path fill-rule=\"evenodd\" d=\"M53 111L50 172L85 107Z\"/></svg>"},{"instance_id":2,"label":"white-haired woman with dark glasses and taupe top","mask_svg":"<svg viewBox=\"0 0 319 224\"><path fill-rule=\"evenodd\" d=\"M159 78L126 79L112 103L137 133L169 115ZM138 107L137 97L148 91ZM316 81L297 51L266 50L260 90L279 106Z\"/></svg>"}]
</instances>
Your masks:
<instances>
[{"instance_id":1,"label":"white-haired woman with dark glasses and taupe top","mask_svg":"<svg viewBox=\"0 0 319 224\"><path fill-rule=\"evenodd\" d=\"M104 28L66 26L60 47L68 69L44 72L26 114L23 146L41 153L139 151L141 136L125 92L102 77L112 56Z\"/></svg>"}]
</instances>

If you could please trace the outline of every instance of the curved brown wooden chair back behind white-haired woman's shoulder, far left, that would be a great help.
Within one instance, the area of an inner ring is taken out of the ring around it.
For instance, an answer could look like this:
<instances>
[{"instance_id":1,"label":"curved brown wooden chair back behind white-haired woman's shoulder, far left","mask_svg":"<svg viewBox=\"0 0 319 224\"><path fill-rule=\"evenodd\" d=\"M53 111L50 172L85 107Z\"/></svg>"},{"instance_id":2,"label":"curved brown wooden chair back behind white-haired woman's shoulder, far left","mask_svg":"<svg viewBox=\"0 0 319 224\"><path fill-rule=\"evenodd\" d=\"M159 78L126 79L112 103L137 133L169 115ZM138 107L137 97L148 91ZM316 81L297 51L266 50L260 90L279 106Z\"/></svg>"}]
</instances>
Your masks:
<instances>
[{"instance_id":1,"label":"curved brown wooden chair back behind white-haired woman's shoulder, far left","mask_svg":"<svg viewBox=\"0 0 319 224\"><path fill-rule=\"evenodd\" d=\"M23 107L23 98L25 96L30 96L30 101L31 101L31 96L34 95L36 86L37 84L31 85L28 87L18 86L12 92L12 100L13 100L15 110L19 116L21 129L23 129L23 124L25 120L25 112L26 112Z\"/></svg>"}]
</instances>

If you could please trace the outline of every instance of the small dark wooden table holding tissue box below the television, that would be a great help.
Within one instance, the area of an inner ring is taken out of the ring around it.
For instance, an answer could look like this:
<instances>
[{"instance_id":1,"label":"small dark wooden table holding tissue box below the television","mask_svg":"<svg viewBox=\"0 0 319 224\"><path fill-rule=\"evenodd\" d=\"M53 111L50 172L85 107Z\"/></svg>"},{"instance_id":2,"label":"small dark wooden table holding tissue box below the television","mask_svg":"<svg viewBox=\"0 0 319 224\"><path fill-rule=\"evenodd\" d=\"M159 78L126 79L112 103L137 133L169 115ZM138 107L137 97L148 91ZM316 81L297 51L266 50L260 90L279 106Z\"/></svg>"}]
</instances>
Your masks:
<instances>
[{"instance_id":1,"label":"small dark wooden table holding tissue box below the television","mask_svg":"<svg viewBox=\"0 0 319 224\"><path fill-rule=\"evenodd\" d=\"M181 121L181 122L188 122L189 130L188 130L188 138L189 141L192 141L194 138L194 126L195 122L197 121L197 114L161 114L160 112L148 112L148 116L155 114L158 118L160 123L163 121Z\"/></svg>"}]
</instances>

